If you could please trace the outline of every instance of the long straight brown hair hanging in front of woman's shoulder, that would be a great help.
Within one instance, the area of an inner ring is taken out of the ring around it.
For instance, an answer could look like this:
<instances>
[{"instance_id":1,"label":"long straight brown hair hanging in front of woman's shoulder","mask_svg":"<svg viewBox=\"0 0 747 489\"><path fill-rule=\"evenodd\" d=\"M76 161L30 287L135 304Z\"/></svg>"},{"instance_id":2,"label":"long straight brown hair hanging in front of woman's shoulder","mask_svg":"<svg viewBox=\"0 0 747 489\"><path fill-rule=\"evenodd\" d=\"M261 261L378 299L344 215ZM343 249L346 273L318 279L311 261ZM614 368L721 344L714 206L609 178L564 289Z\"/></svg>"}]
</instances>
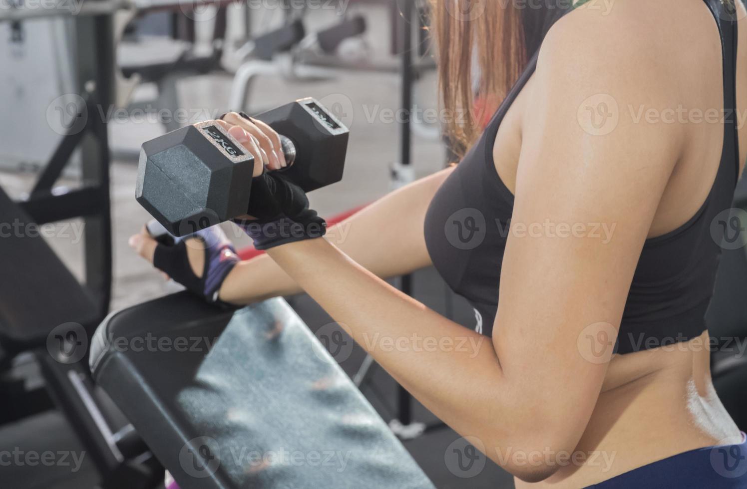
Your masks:
<instances>
[{"instance_id":1,"label":"long straight brown hair hanging in front of woman's shoulder","mask_svg":"<svg viewBox=\"0 0 747 489\"><path fill-rule=\"evenodd\" d=\"M464 155L527 63L521 9L513 0L431 0L438 84L453 152ZM472 79L473 50L482 69ZM474 87L483 107L474 107Z\"/></svg>"}]
</instances>

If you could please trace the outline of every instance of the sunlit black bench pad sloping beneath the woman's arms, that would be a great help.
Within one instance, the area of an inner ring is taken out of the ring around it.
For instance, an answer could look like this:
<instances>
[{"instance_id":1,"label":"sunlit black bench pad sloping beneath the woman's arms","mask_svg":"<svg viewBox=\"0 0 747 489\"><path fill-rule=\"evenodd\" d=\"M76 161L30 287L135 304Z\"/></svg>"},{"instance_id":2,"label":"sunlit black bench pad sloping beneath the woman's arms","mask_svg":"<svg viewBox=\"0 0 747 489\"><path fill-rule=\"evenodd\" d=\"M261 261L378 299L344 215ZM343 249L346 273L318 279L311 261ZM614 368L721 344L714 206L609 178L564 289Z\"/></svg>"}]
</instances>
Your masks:
<instances>
[{"instance_id":1,"label":"sunlit black bench pad sloping beneath the woman's arms","mask_svg":"<svg viewBox=\"0 0 747 489\"><path fill-rule=\"evenodd\" d=\"M102 323L90 362L182 489L433 488L282 299L146 302Z\"/></svg>"}]
</instances>

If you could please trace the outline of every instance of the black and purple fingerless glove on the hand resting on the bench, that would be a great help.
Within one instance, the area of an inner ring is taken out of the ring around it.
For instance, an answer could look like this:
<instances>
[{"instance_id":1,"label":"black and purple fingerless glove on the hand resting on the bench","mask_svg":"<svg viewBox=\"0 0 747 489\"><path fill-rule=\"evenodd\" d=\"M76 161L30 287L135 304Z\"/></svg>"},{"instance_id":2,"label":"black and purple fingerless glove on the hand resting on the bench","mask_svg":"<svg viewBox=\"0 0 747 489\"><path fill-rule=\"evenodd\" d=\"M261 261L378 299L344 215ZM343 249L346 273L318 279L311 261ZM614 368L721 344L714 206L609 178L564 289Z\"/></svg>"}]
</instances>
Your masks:
<instances>
[{"instance_id":1,"label":"black and purple fingerless glove on the hand resting on the bench","mask_svg":"<svg viewBox=\"0 0 747 489\"><path fill-rule=\"evenodd\" d=\"M192 271L187 257L186 240L190 238L202 241L205 246L205 264L202 266L201 277ZM225 308L234 306L218 299L220 286L239 261L241 260L236 255L236 249L217 225L176 238L173 246L158 243L153 255L153 265L158 270L165 272L205 301Z\"/></svg>"}]
</instances>

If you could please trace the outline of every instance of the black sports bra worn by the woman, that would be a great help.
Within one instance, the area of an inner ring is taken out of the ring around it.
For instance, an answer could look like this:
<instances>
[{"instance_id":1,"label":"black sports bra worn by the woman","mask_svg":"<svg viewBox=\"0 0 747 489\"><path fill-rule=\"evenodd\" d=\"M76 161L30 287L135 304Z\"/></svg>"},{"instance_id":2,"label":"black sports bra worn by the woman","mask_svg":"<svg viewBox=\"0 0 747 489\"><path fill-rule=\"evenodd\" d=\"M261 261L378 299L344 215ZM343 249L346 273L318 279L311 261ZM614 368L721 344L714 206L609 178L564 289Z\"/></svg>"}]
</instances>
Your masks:
<instances>
[{"instance_id":1,"label":"black sports bra worn by the woman","mask_svg":"<svg viewBox=\"0 0 747 489\"><path fill-rule=\"evenodd\" d=\"M734 122L737 23L721 1L704 1L716 19L722 40L728 120L724 124L721 163L700 210L675 231L645 241L627 294L617 353L686 341L706 329L704 315L721 255L711 223L717 214L731 208L740 165ZM551 24L545 22L543 35ZM493 146L503 116L535 70L537 52L539 46L480 139L433 197L425 219L433 264L451 289L468 299L475 310L476 331L488 336L498 310L504 231L514 201L496 172Z\"/></svg>"}]
</instances>

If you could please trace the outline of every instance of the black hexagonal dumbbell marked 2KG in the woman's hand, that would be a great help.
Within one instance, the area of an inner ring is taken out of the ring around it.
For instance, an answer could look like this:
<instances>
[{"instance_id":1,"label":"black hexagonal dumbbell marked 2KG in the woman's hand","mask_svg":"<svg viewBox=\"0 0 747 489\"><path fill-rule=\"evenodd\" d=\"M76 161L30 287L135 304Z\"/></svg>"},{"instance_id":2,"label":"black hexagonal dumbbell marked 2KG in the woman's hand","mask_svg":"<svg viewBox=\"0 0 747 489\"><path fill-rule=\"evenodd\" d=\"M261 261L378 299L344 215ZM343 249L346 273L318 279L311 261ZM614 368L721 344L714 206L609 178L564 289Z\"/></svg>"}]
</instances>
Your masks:
<instances>
[{"instance_id":1,"label":"black hexagonal dumbbell marked 2KG in the woman's hand","mask_svg":"<svg viewBox=\"0 0 747 489\"><path fill-rule=\"evenodd\" d=\"M255 116L281 134L287 168L306 192L340 181L348 129L314 99ZM223 127L200 122L143 143L135 198L164 228L184 236L247 214L254 158Z\"/></svg>"}]
</instances>

